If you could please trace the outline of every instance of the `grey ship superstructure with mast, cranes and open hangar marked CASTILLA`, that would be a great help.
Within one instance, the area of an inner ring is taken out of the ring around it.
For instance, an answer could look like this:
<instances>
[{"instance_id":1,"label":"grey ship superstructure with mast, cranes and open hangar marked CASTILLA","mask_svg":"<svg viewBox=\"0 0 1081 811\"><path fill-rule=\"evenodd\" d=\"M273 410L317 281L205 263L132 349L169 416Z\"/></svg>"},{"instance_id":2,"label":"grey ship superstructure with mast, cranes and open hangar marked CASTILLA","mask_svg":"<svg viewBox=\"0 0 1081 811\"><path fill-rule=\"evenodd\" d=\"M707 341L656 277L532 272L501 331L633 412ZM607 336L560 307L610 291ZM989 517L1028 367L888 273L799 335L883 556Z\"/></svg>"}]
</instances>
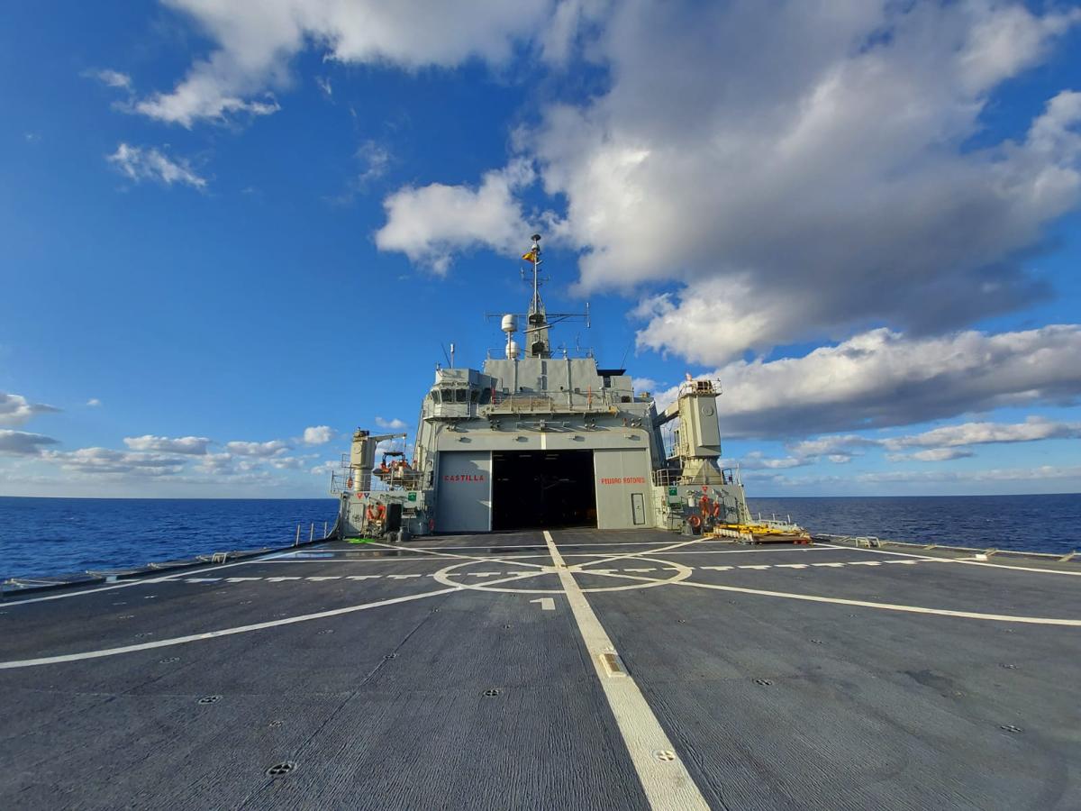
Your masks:
<instances>
[{"instance_id":1,"label":"grey ship superstructure with mast, cranes and open hangar marked CASTILLA","mask_svg":"<svg viewBox=\"0 0 1081 811\"><path fill-rule=\"evenodd\" d=\"M412 460L358 429L332 479L347 534L403 539L525 528L663 528L704 532L749 522L737 469L722 469L719 386L691 380L658 413L625 369L591 353L552 350L540 287L540 236L523 256L532 294L508 314L502 358L481 369L437 367ZM521 342L517 338L521 330ZM663 426L675 426L671 452ZM374 477L374 480L373 480ZM378 482L373 487L374 482Z\"/></svg>"}]
</instances>

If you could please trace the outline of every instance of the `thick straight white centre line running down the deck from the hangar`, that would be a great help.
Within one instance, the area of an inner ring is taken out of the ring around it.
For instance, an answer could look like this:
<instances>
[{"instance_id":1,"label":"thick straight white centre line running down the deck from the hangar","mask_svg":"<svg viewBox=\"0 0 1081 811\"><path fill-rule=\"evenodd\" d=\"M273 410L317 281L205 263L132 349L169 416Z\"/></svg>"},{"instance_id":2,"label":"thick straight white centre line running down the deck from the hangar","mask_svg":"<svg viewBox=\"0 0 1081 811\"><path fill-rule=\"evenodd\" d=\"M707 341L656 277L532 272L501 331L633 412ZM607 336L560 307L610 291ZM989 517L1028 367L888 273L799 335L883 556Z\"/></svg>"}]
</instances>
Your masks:
<instances>
[{"instance_id":1,"label":"thick straight white centre line running down the deck from the hangar","mask_svg":"<svg viewBox=\"0 0 1081 811\"><path fill-rule=\"evenodd\" d=\"M635 679L629 674L626 676L620 674L619 678L614 678L610 669L604 666L602 656L606 653L618 655L617 651L586 600L586 596L575 583L574 575L568 571L551 534L546 531L544 536L558 570L559 581L566 591L566 599L571 604L578 633L582 634L582 641L589 651L589 659L597 670L604 697L608 699L615 716L619 734L623 735L627 753L630 755L635 771L638 772L638 779L650 806L654 809L672 811L708 809L709 803L694 784L682 760L675 754L671 741L650 709ZM672 757L672 759L663 760L662 757Z\"/></svg>"}]
</instances>

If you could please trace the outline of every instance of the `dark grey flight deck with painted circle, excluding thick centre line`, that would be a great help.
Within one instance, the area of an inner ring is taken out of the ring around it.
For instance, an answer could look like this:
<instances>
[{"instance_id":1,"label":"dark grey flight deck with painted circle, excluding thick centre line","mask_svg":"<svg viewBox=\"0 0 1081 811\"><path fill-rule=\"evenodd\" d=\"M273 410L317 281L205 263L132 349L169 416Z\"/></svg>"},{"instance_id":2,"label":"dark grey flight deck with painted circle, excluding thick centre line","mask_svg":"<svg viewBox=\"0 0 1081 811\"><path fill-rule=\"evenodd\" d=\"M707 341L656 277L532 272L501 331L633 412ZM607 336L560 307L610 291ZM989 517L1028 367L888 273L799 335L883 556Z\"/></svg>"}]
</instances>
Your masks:
<instances>
[{"instance_id":1,"label":"dark grey flight deck with painted circle, excluding thick centre line","mask_svg":"<svg viewBox=\"0 0 1081 811\"><path fill-rule=\"evenodd\" d=\"M1081 569L552 535L710 806L1081 808ZM649 808L537 564L333 543L9 599L0 808Z\"/></svg>"}]
</instances>

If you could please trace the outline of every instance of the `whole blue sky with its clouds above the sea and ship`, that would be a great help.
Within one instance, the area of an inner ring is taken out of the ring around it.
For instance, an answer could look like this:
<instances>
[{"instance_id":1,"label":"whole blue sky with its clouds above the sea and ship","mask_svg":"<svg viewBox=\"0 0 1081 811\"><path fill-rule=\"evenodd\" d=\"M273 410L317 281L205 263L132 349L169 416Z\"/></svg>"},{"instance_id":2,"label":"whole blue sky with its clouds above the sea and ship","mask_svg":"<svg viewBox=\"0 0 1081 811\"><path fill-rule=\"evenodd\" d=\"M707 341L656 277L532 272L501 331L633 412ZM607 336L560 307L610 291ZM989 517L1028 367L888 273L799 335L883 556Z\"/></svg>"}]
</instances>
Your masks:
<instances>
[{"instance_id":1,"label":"whole blue sky with its clouds above the sea and ship","mask_svg":"<svg viewBox=\"0 0 1081 811\"><path fill-rule=\"evenodd\" d=\"M1077 2L22 3L0 104L0 495L325 495L534 231L750 496L1081 492Z\"/></svg>"}]
</instances>

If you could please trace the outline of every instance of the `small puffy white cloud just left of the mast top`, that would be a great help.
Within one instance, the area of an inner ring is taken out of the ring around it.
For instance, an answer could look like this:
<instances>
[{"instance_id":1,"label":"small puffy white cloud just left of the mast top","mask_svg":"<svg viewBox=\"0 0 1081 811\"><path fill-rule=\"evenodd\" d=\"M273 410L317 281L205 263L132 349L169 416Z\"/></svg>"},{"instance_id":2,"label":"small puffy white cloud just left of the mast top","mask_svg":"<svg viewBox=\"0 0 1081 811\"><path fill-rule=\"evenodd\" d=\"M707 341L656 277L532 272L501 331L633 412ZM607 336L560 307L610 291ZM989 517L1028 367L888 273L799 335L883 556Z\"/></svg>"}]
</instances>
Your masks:
<instances>
[{"instance_id":1,"label":"small puffy white cloud just left of the mast top","mask_svg":"<svg viewBox=\"0 0 1081 811\"><path fill-rule=\"evenodd\" d=\"M383 201L387 223L375 234L381 251L401 251L416 264L445 274L457 251L486 247L521 253L529 236L515 194L534 181L526 161L488 172L480 186L405 186Z\"/></svg>"}]
</instances>

